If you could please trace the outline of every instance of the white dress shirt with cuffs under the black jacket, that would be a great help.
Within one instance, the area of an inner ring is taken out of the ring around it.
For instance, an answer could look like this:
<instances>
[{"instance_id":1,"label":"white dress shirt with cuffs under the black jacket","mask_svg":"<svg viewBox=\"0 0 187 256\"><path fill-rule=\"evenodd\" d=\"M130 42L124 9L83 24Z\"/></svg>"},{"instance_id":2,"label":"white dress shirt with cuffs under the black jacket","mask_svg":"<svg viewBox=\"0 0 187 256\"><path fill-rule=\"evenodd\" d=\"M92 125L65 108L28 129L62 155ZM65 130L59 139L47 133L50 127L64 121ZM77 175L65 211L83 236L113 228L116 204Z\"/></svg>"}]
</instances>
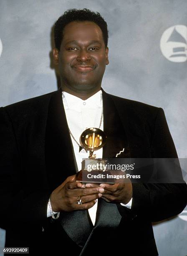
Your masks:
<instances>
[{"instance_id":1,"label":"white dress shirt with cuffs under the black jacket","mask_svg":"<svg viewBox=\"0 0 187 256\"><path fill-rule=\"evenodd\" d=\"M87 128L96 127L99 128L99 123L101 120L102 113L102 91L96 92L96 94L89 97L87 100L82 100L74 95L71 95L67 92L62 92L63 97L63 105L66 113L66 119L68 123L68 127L73 134L73 137L80 144L79 138L81 133ZM102 118L100 129L103 131L103 123L104 117ZM78 166L78 170L81 170L81 162L83 158L88 158L89 152L79 152L78 144L73 140L71 136L71 141L73 144L73 150L76 158L76 163ZM96 158L102 158L103 149L99 149L94 151L96 154ZM122 204L125 207L131 208L132 199L126 204ZM93 207L88 209L91 221L93 225L96 220L96 210L97 210L97 202ZM50 210L48 207L47 216L51 216Z\"/></svg>"}]
</instances>

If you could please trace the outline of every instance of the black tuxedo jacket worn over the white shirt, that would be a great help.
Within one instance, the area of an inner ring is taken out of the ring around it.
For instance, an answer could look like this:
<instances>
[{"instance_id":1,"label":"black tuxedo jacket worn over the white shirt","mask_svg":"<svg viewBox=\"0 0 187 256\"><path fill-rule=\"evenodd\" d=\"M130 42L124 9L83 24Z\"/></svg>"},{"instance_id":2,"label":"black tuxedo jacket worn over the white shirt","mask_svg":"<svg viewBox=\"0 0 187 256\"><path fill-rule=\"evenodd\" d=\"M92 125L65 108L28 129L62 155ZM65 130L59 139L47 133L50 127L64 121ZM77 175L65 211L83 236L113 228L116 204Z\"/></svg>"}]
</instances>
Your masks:
<instances>
[{"instance_id":1,"label":"black tuxedo jacket worn over the white shirt","mask_svg":"<svg viewBox=\"0 0 187 256\"><path fill-rule=\"evenodd\" d=\"M176 158L164 111L103 91L103 157ZM88 211L47 218L51 192L76 173L61 90L0 108L0 224L5 246L30 254L158 255L152 221L179 214L186 184L133 184L131 210L99 199L96 224Z\"/></svg>"}]
</instances>

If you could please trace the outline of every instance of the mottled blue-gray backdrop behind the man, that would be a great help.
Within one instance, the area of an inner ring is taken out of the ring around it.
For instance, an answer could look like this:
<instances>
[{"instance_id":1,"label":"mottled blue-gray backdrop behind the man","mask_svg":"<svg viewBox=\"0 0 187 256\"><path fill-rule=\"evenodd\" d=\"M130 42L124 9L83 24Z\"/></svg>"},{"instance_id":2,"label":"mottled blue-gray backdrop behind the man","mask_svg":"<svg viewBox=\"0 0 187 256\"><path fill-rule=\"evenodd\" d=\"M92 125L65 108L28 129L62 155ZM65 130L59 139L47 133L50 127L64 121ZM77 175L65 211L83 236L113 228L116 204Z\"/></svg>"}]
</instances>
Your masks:
<instances>
[{"instance_id":1,"label":"mottled blue-gray backdrop behind the man","mask_svg":"<svg viewBox=\"0 0 187 256\"><path fill-rule=\"evenodd\" d=\"M186 158L187 0L0 0L0 105L57 90L51 27L69 8L104 16L110 64L103 88L162 107ZM154 234L159 255L187 255L187 208L154 225ZM4 237L0 230L0 246Z\"/></svg>"}]
</instances>

